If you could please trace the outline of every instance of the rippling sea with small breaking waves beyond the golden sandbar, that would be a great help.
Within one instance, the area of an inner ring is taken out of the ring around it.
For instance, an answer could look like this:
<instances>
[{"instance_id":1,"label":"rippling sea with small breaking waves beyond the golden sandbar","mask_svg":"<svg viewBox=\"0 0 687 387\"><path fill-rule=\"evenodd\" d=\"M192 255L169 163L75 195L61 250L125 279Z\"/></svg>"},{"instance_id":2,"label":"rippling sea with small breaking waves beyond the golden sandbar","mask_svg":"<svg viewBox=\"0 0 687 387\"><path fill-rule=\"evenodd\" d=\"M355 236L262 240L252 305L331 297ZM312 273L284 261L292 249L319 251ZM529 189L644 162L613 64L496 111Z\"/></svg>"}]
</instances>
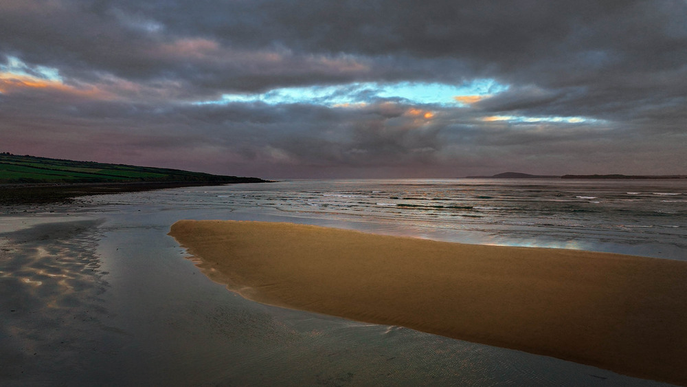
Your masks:
<instances>
[{"instance_id":1,"label":"rippling sea with small breaking waves beyond the golden sandbar","mask_svg":"<svg viewBox=\"0 0 687 387\"><path fill-rule=\"evenodd\" d=\"M687 259L687 180L296 180L98 197L463 243Z\"/></svg>"}]
</instances>

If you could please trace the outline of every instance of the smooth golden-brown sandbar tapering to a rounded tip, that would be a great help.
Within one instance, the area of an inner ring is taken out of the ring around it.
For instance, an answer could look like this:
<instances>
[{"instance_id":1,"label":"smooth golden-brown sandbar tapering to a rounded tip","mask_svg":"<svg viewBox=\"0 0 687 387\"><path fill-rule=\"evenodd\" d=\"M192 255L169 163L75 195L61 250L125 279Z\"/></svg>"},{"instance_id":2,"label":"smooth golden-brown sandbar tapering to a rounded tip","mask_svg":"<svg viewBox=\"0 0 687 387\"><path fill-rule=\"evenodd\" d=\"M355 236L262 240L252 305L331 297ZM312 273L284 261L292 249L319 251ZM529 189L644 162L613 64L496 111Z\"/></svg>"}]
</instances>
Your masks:
<instances>
[{"instance_id":1,"label":"smooth golden-brown sandbar tapering to a rounded tip","mask_svg":"<svg viewBox=\"0 0 687 387\"><path fill-rule=\"evenodd\" d=\"M687 384L687 263L291 223L179 221L201 270L269 305Z\"/></svg>"}]
</instances>

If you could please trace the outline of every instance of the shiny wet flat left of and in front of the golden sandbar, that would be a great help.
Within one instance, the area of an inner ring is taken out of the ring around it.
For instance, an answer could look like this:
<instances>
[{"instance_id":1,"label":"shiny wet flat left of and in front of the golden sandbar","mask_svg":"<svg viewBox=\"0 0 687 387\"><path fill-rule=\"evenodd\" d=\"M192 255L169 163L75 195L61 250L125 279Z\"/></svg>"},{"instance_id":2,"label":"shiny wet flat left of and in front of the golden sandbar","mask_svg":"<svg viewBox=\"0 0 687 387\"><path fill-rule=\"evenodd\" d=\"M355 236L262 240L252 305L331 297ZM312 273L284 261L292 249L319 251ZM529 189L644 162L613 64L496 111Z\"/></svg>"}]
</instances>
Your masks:
<instances>
[{"instance_id":1,"label":"shiny wet flat left of and in front of the golden sandbar","mask_svg":"<svg viewBox=\"0 0 687 387\"><path fill-rule=\"evenodd\" d=\"M166 233L178 219L260 215L156 203L82 210L92 221L41 215L0 234L0 384L660 385L245 300Z\"/></svg>"}]
</instances>

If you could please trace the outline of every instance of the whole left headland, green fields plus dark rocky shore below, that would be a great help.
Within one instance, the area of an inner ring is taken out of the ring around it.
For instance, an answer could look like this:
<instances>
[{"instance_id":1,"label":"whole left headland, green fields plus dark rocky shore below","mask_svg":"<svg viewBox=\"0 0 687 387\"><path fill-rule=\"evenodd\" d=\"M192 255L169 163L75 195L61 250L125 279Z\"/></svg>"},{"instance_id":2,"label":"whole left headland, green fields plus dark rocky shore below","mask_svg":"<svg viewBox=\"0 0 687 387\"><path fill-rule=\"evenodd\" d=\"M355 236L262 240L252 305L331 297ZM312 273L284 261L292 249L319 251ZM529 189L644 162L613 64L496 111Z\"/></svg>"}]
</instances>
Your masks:
<instances>
[{"instance_id":1,"label":"whole left headland, green fields plus dark rocky shore below","mask_svg":"<svg viewBox=\"0 0 687 387\"><path fill-rule=\"evenodd\" d=\"M266 182L269 181L257 177L0 153L0 205L71 201L78 196L160 188Z\"/></svg>"}]
</instances>

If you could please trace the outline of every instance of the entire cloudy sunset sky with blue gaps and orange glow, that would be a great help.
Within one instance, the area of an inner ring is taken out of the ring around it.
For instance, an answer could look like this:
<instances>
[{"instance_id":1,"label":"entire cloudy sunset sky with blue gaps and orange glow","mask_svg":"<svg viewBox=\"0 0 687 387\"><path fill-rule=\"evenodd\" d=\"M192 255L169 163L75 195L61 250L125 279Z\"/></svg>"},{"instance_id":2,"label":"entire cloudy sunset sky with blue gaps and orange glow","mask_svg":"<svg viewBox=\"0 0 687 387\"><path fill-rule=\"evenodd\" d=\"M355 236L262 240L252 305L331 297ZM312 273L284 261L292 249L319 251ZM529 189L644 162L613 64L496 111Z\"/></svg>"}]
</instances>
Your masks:
<instances>
[{"instance_id":1,"label":"entire cloudy sunset sky with blue gaps and orange glow","mask_svg":"<svg viewBox=\"0 0 687 387\"><path fill-rule=\"evenodd\" d=\"M687 174L687 1L0 1L0 151L266 178Z\"/></svg>"}]
</instances>

